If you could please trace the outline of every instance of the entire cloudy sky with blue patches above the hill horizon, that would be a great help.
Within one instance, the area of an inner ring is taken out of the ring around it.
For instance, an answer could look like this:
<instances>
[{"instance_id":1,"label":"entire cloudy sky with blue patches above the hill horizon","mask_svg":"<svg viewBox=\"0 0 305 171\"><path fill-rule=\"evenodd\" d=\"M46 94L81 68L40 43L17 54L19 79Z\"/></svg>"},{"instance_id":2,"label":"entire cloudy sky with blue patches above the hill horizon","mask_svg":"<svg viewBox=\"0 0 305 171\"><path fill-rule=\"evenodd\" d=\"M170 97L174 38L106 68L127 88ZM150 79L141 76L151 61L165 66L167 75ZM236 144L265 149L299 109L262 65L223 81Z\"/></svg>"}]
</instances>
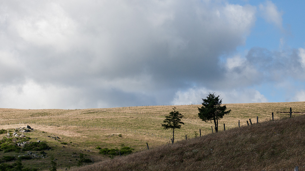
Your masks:
<instances>
[{"instance_id":1,"label":"entire cloudy sky with blue patches above the hill horizon","mask_svg":"<svg viewBox=\"0 0 305 171\"><path fill-rule=\"evenodd\" d=\"M305 101L305 1L0 0L0 108Z\"/></svg>"}]
</instances>

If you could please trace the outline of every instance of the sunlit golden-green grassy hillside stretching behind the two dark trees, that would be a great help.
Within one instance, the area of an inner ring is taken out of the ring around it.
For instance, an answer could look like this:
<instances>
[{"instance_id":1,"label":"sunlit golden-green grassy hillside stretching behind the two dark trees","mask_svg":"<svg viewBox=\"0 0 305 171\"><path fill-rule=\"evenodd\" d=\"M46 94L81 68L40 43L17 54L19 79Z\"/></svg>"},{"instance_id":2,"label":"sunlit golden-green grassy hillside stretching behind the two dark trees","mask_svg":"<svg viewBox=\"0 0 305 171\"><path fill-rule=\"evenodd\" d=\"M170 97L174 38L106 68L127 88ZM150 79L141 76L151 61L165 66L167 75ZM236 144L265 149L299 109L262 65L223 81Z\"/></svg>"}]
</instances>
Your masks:
<instances>
[{"instance_id":1,"label":"sunlit golden-green grassy hillside stretching behind the two dark trees","mask_svg":"<svg viewBox=\"0 0 305 171\"><path fill-rule=\"evenodd\" d=\"M205 123L198 118L198 107L201 105L176 106L177 111L185 117L182 120L180 130L175 131L176 141L195 136L195 131L202 135L211 133L211 123ZM246 120L256 122L271 120L274 112L275 120L289 116L289 107L292 107L293 116L302 115L305 112L305 102L293 103L249 103L226 104L231 109L231 114L225 116L219 130L226 125L226 132L234 127L246 125ZM47 155L43 159L23 160L25 166L33 166L38 170L48 169L50 157L57 159L58 170L69 169L76 166L80 154L94 162L109 159L109 156L99 154L100 148L133 148L134 152L145 151L146 143L150 149L167 146L170 142L171 131L163 130L161 123L164 116L172 111L173 106L134 106L109 109L77 109L77 110L21 110L0 109L0 129L14 132L16 127L30 125L35 131L25 133L30 137L29 141L44 141L52 149L45 150ZM5 134L0 135L4 137ZM51 137L57 136L59 139ZM0 152L0 159L7 155L24 155L27 152ZM36 152L39 153L39 152ZM14 161L12 161L14 162ZM11 162L11 163L12 163Z\"/></svg>"}]
</instances>

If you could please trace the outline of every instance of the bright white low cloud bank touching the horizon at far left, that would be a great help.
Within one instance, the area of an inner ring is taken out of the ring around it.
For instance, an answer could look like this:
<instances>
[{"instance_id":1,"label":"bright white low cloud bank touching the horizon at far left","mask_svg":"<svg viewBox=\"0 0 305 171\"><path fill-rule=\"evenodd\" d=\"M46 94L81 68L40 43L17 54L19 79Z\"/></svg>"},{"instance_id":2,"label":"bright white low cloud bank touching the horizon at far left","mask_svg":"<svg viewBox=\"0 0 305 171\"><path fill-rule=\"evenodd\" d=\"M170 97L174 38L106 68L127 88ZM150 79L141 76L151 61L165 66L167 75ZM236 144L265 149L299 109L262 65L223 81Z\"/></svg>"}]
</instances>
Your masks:
<instances>
[{"instance_id":1,"label":"bright white low cloud bank touching the horizon at far left","mask_svg":"<svg viewBox=\"0 0 305 171\"><path fill-rule=\"evenodd\" d=\"M75 109L86 106L77 88L39 85L31 80L23 84L1 85L0 95L1 105L6 108Z\"/></svg>"}]
</instances>

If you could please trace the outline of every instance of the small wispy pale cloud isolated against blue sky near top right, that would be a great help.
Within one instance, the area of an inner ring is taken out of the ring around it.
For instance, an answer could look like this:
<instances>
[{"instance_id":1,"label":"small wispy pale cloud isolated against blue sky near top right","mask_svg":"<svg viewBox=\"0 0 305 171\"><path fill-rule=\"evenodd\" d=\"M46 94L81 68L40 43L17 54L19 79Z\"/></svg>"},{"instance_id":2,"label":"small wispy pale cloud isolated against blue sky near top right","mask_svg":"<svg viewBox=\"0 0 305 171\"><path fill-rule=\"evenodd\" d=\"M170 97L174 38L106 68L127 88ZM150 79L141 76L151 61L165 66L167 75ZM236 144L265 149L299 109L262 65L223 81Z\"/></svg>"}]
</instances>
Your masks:
<instances>
[{"instance_id":1,"label":"small wispy pale cloud isolated against blue sky near top right","mask_svg":"<svg viewBox=\"0 0 305 171\"><path fill-rule=\"evenodd\" d=\"M273 2L267 0L264 4L259 5L259 9L268 23L273 23L278 28L282 28L282 12L278 11Z\"/></svg>"}]
</instances>

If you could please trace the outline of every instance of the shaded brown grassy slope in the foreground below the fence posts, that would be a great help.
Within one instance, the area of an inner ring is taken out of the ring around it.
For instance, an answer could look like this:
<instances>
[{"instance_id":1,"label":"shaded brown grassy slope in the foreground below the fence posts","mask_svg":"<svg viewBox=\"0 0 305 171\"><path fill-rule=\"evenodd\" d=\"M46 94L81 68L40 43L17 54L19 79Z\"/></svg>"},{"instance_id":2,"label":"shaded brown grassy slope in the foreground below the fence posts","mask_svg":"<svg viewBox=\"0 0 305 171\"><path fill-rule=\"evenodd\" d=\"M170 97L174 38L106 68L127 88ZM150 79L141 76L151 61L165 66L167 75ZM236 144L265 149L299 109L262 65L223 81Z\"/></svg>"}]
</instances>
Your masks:
<instances>
[{"instance_id":1,"label":"shaded brown grassy slope in the foreground below the fence posts","mask_svg":"<svg viewBox=\"0 0 305 171\"><path fill-rule=\"evenodd\" d=\"M178 141L71 171L289 170L305 167L305 116Z\"/></svg>"}]
</instances>

